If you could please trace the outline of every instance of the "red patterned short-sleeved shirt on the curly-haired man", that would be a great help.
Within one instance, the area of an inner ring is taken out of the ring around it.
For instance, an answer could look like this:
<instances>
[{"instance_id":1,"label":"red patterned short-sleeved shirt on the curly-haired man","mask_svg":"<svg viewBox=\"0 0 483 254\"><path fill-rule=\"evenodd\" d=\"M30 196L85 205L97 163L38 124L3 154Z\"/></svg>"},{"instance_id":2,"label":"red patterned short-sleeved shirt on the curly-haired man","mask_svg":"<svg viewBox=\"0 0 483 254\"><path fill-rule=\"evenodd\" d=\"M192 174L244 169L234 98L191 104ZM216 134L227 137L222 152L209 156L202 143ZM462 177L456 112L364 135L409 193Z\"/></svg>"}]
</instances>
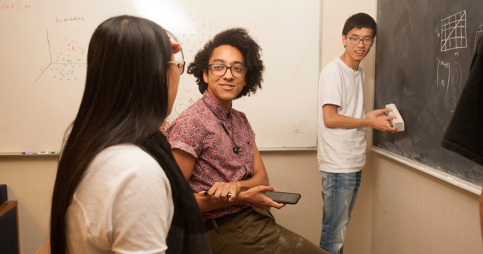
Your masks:
<instances>
[{"instance_id":1,"label":"red patterned short-sleeved shirt on the curly-haired man","mask_svg":"<svg viewBox=\"0 0 483 254\"><path fill-rule=\"evenodd\" d=\"M223 130L226 126L228 134ZM244 113L226 110L206 91L202 99L181 113L166 132L171 148L196 158L189 184L195 193L209 189L215 182L246 180L253 174L255 133ZM240 146L233 151L234 143ZM247 208L232 205L203 213L204 219L218 218Z\"/></svg>"}]
</instances>

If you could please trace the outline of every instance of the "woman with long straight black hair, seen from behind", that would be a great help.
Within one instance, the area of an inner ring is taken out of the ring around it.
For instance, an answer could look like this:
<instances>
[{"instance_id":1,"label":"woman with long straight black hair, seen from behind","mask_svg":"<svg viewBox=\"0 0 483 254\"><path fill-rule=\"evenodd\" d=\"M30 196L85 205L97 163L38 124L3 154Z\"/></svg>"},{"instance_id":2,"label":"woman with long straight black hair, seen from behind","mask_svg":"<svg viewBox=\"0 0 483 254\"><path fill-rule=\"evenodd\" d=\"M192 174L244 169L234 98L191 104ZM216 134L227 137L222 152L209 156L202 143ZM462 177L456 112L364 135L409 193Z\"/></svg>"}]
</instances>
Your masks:
<instances>
[{"instance_id":1,"label":"woman with long straight black hair, seen from behind","mask_svg":"<svg viewBox=\"0 0 483 254\"><path fill-rule=\"evenodd\" d=\"M55 179L51 253L210 253L199 207L159 131L184 70L175 48L139 17L95 30Z\"/></svg>"}]
</instances>

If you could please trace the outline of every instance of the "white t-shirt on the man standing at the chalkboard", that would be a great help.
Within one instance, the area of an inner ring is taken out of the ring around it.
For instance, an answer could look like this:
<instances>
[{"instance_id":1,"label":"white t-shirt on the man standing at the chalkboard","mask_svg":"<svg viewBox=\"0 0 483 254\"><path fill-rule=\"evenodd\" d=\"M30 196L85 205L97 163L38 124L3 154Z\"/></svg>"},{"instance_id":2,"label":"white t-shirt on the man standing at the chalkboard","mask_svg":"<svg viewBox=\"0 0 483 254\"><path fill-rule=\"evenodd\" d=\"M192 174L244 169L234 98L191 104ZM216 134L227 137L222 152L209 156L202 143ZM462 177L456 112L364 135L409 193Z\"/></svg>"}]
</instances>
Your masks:
<instances>
[{"instance_id":1,"label":"white t-shirt on the man standing at the chalkboard","mask_svg":"<svg viewBox=\"0 0 483 254\"><path fill-rule=\"evenodd\" d=\"M366 118L364 111L364 71L349 68L336 57L322 70L319 79L317 114L317 159L319 170L355 173L366 164L366 128L326 128L322 106L337 105L337 112Z\"/></svg>"}]
</instances>

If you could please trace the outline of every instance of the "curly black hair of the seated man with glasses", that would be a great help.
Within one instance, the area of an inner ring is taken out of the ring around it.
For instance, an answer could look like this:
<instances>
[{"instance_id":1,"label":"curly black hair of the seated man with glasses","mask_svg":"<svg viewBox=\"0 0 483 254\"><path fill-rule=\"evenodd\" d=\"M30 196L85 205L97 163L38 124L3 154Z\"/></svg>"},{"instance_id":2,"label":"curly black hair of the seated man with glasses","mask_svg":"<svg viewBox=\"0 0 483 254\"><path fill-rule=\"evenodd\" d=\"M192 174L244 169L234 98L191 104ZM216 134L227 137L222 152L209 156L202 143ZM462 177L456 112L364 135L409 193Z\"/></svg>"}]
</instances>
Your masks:
<instances>
[{"instance_id":1,"label":"curly black hair of the seated man with glasses","mask_svg":"<svg viewBox=\"0 0 483 254\"><path fill-rule=\"evenodd\" d=\"M247 85L243 87L243 90L235 99L254 94L258 88L262 87L262 73L265 67L260 59L260 46L250 37L245 28L226 29L213 37L212 40L209 40L203 49L196 53L194 61L188 66L187 73L195 76L200 92L204 93L208 88L208 84L204 82L203 70L208 69L209 58L212 56L213 50L223 45L237 48L245 58L245 65L248 67L248 72L245 76Z\"/></svg>"}]
</instances>

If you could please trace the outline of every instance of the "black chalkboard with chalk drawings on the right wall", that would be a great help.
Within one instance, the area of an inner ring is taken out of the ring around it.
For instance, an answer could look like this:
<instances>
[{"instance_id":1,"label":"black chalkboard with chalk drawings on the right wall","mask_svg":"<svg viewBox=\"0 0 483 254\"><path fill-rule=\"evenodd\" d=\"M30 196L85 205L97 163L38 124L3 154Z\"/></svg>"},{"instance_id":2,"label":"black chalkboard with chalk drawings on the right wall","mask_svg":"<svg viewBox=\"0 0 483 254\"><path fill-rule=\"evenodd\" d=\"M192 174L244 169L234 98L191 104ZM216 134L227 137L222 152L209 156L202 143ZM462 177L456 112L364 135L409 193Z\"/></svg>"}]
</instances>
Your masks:
<instances>
[{"instance_id":1,"label":"black chalkboard with chalk drawings on the right wall","mask_svg":"<svg viewBox=\"0 0 483 254\"><path fill-rule=\"evenodd\" d=\"M405 131L373 132L375 147L479 186L481 166L441 140L483 36L482 8L474 0L378 0L374 108L396 103Z\"/></svg>"}]
</instances>

